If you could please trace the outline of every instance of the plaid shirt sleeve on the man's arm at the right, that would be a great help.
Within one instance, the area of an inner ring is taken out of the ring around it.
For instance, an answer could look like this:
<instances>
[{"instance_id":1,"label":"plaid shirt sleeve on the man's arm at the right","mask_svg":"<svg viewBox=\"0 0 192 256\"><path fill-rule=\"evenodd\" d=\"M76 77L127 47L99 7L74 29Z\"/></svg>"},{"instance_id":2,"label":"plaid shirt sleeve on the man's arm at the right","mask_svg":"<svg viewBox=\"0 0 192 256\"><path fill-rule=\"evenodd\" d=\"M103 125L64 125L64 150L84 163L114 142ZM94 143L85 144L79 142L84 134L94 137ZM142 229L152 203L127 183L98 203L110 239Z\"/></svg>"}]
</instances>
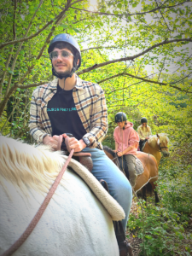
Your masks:
<instances>
[{"instance_id":1,"label":"plaid shirt sleeve on the man's arm at the right","mask_svg":"<svg viewBox=\"0 0 192 256\"><path fill-rule=\"evenodd\" d=\"M96 148L108 132L108 108L102 89L92 109L92 113L90 113L91 130L84 137L90 140L89 148Z\"/></svg>"}]
</instances>

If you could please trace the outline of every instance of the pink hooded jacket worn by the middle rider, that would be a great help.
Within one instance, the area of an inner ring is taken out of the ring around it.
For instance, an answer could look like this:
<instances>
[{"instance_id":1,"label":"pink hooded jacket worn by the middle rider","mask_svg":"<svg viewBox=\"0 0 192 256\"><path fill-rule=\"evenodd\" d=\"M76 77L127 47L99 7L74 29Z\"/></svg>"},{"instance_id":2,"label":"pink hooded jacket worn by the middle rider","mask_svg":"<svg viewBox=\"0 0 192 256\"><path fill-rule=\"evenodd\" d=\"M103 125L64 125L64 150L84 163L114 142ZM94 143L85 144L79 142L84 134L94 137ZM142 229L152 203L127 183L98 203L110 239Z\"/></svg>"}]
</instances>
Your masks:
<instances>
[{"instance_id":1,"label":"pink hooded jacket worn by the middle rider","mask_svg":"<svg viewBox=\"0 0 192 256\"><path fill-rule=\"evenodd\" d=\"M125 125L125 130L120 129L119 126L117 126L114 129L113 137L115 143L118 143L118 151L122 152L128 147L134 146L131 151L125 154L137 155L139 136L137 131L133 129L133 124L131 122L127 122Z\"/></svg>"}]
</instances>

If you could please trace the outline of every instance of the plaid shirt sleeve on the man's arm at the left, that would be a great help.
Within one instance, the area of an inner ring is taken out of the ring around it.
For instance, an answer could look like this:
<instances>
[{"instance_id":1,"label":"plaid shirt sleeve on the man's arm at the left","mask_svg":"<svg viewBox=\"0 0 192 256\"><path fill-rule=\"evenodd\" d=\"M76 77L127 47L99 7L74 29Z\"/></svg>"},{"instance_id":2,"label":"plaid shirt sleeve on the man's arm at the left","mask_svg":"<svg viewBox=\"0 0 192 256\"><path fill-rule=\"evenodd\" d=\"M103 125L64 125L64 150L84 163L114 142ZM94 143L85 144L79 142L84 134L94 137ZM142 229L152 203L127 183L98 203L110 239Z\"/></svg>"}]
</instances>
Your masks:
<instances>
[{"instance_id":1,"label":"plaid shirt sleeve on the man's arm at the left","mask_svg":"<svg viewBox=\"0 0 192 256\"><path fill-rule=\"evenodd\" d=\"M49 135L46 131L44 131L44 127L40 118L40 109L41 106L38 104L38 89L34 90L32 93L32 101L30 108L30 121L29 128L30 134L37 141L37 143L43 143L43 139L45 136Z\"/></svg>"}]
</instances>

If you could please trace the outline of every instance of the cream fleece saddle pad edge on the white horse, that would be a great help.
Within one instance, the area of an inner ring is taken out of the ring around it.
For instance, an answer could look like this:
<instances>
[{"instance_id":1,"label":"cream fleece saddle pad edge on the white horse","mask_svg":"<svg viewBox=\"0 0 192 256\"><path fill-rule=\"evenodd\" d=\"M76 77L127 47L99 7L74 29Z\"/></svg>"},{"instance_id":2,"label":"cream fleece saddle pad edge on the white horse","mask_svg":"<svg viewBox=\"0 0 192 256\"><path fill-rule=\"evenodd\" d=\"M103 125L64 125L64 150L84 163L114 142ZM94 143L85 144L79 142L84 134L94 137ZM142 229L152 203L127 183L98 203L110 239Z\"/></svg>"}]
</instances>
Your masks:
<instances>
[{"instance_id":1,"label":"cream fleece saddle pad edge on the white horse","mask_svg":"<svg viewBox=\"0 0 192 256\"><path fill-rule=\"evenodd\" d=\"M63 155L63 158L67 160L67 156ZM102 202L103 207L106 208L110 214L112 220L119 221L125 218L125 212L119 203L113 199L108 191L102 187L102 184L88 171L88 169L82 166L78 161L71 159L68 166L73 168L73 171L79 174L84 182L90 187L92 192L96 195L97 199Z\"/></svg>"}]
</instances>

